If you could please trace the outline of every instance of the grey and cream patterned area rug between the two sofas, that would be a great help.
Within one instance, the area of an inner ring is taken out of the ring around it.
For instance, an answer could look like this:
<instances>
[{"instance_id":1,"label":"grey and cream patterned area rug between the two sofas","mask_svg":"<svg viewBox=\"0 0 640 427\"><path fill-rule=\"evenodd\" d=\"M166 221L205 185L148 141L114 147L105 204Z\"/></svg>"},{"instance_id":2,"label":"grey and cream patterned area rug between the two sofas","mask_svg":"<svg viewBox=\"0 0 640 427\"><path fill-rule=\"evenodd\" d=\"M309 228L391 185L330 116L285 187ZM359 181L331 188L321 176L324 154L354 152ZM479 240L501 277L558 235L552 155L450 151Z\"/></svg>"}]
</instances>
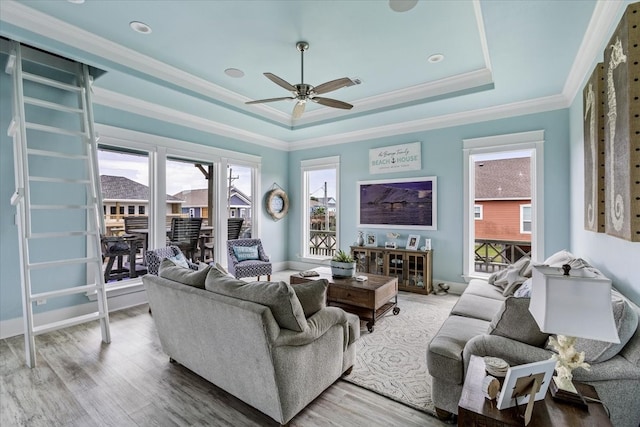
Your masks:
<instances>
[{"instance_id":1,"label":"grey and cream patterned area rug between the two sofas","mask_svg":"<svg viewBox=\"0 0 640 427\"><path fill-rule=\"evenodd\" d=\"M343 380L434 415L427 346L458 296L400 293L400 313L376 321L373 333L362 329L356 363Z\"/></svg>"}]
</instances>

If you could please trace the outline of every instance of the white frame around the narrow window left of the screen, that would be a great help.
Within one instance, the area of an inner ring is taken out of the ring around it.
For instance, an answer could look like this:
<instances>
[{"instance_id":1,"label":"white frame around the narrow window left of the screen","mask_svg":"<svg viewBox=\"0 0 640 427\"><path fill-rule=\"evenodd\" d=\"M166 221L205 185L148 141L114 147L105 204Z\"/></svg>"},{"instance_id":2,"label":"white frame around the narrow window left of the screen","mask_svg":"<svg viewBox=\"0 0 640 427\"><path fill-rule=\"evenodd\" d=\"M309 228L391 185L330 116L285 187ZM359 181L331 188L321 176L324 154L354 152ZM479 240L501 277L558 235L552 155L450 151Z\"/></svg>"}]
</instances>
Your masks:
<instances>
[{"instance_id":1,"label":"white frame around the narrow window left of the screen","mask_svg":"<svg viewBox=\"0 0 640 427\"><path fill-rule=\"evenodd\" d=\"M308 172L335 169L336 173L336 248L340 247L340 156L321 157L316 159L302 160L300 162L300 174L302 176L302 212L301 215L301 248L302 259L308 261L318 261L330 259L330 256L313 255L309 253L309 233L310 213L311 213L311 195L309 193L309 177Z\"/></svg>"}]
</instances>

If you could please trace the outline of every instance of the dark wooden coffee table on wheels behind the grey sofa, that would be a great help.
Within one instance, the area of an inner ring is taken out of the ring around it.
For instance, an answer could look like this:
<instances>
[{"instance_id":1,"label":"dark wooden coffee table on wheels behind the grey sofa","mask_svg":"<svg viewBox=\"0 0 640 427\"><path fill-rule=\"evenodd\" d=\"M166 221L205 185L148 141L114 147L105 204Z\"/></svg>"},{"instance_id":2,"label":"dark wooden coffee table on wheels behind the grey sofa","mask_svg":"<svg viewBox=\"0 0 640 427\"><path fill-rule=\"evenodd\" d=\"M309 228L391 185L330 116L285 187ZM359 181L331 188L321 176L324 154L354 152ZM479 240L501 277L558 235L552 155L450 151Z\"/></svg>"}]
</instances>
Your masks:
<instances>
[{"instance_id":1,"label":"dark wooden coffee table on wheels behind the grey sofa","mask_svg":"<svg viewBox=\"0 0 640 427\"><path fill-rule=\"evenodd\" d=\"M292 285L310 282L317 279L327 279L327 305L340 307L344 311L358 315L367 320L367 330L373 332L376 320L384 316L389 310L393 314L400 313L398 307L398 278L379 276L370 273L358 273L367 276L364 282L358 282L355 277L334 278L328 267L314 268L319 276L301 277L292 274L289 278Z\"/></svg>"}]
</instances>

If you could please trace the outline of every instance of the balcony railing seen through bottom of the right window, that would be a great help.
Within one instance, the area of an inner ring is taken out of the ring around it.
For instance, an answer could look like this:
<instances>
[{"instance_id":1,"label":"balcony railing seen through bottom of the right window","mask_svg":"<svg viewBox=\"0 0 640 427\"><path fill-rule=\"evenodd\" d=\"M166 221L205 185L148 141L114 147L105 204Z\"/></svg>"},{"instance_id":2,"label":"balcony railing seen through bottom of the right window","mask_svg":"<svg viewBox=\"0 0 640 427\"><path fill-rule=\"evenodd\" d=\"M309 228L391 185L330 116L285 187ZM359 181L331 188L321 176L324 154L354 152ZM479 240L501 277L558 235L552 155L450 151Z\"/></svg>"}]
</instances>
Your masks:
<instances>
[{"instance_id":1,"label":"balcony railing seen through bottom of the right window","mask_svg":"<svg viewBox=\"0 0 640 427\"><path fill-rule=\"evenodd\" d=\"M493 273L503 270L523 256L531 257L531 242L476 239L475 271Z\"/></svg>"}]
</instances>

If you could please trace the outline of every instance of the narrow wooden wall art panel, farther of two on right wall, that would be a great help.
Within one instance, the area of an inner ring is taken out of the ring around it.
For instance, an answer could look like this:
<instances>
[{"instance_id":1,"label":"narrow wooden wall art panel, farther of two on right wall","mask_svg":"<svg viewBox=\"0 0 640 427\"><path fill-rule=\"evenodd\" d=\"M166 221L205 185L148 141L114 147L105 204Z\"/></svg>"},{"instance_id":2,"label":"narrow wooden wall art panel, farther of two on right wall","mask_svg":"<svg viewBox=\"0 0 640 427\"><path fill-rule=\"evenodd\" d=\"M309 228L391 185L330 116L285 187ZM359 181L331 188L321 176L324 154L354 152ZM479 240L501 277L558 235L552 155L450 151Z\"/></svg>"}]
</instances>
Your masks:
<instances>
[{"instance_id":1,"label":"narrow wooden wall art panel, farther of two on right wall","mask_svg":"<svg viewBox=\"0 0 640 427\"><path fill-rule=\"evenodd\" d=\"M604 63L582 91L584 115L584 228L604 233Z\"/></svg>"}]
</instances>

